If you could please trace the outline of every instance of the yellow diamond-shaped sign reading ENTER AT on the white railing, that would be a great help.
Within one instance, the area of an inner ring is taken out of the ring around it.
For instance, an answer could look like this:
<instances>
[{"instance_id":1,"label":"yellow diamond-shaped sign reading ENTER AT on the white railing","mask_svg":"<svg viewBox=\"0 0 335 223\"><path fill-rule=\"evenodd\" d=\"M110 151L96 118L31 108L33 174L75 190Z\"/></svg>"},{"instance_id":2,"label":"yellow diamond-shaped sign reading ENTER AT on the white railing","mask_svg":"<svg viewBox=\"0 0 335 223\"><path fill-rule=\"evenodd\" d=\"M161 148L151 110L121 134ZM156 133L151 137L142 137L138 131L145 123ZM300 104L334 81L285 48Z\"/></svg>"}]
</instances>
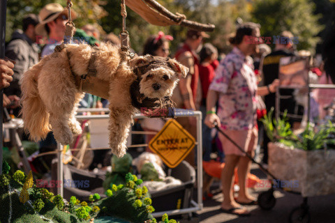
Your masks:
<instances>
[{"instance_id":1,"label":"yellow diamond-shaped sign reading ENTER AT on the white railing","mask_svg":"<svg viewBox=\"0 0 335 223\"><path fill-rule=\"evenodd\" d=\"M154 151L170 168L177 167L195 146L195 139L177 121L170 119L149 142Z\"/></svg>"}]
</instances>

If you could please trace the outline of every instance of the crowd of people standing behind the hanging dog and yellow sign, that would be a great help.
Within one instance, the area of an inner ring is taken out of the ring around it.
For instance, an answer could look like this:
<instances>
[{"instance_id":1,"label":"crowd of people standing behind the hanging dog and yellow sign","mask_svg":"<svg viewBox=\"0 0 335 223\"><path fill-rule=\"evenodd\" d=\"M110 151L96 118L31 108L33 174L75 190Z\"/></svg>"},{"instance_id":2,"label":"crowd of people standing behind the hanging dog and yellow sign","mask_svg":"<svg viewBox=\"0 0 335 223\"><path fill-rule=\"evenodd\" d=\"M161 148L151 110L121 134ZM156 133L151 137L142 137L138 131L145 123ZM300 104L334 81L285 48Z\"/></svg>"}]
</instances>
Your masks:
<instances>
[{"instance_id":1,"label":"crowd of people standing behind the hanging dog and yellow sign","mask_svg":"<svg viewBox=\"0 0 335 223\"><path fill-rule=\"evenodd\" d=\"M71 11L74 20L75 12ZM54 52L54 47L61 44L65 35L68 12L58 3L47 4L39 15L29 14L22 20L22 30L15 31L12 39L6 44L8 59L0 60L1 82L4 89L3 106L8 107L14 116L20 116L20 80L31 66L38 60ZM77 35L84 36L92 46L99 45L99 41L107 41L120 45L119 38L109 33L104 38L92 24L77 29ZM75 34L76 35L76 34ZM278 35L278 33L274 33ZM40 36L47 39L43 45L38 43ZM281 38L291 39L292 33L284 31ZM38 37L38 38L36 38ZM87 37L87 38L86 38ZM255 204L256 200L248 193L246 187L247 174L250 172L251 161L244 153L232 144L222 134L214 134L214 123L233 139L245 153L254 155L255 148L262 144L264 155L262 162L267 164L267 142L269 139L263 134L258 118L276 107L275 92L279 85L279 61L285 56L297 55L292 41L276 41L274 50L262 43L260 38L260 24L246 22L239 24L234 36L230 38L232 50L229 54L218 54L218 50L211 43L207 43L209 35L202 31L189 29L184 43L180 44L177 52L170 52L170 42L174 38L162 31L149 36L142 52L137 54L151 54L154 56L174 57L189 68L188 75L179 80L174 89L172 100L177 108L200 110L202 112L202 146L204 166L212 160L214 146L218 150L218 160L225 162L221 172L222 190L224 195L221 210L235 215L249 215L242 205ZM250 41L254 38L255 41ZM321 84L332 84L325 72L314 67L311 72L320 78ZM11 82L11 83L10 83ZM10 83L10 84L9 84ZM292 90L281 90L282 95L292 95ZM325 91L325 90L322 90ZM320 105L327 102L322 100L320 91L315 93L315 101ZM324 95L325 93L323 93ZM262 100L264 98L264 102ZM329 97L332 98L332 97ZM334 97L333 97L334 98ZM94 98L87 94L82 100L82 107L105 107L107 100ZM290 114L302 114L301 107L297 109L297 102L289 97L281 101L280 110L288 110ZM298 110L298 111L297 111ZM196 121L194 117L177 118L177 121L196 139ZM297 125L301 119L290 118L290 123ZM147 118L141 123L145 131L159 131L165 121L161 118ZM258 140L262 135L263 140ZM146 142L151 140L148 136ZM52 133L40 142L41 147L54 146L56 142ZM148 148L149 150L149 148ZM195 166L195 152L189 153L186 160ZM237 167L239 178L239 194L233 196L232 184L234 169Z\"/></svg>"}]
</instances>

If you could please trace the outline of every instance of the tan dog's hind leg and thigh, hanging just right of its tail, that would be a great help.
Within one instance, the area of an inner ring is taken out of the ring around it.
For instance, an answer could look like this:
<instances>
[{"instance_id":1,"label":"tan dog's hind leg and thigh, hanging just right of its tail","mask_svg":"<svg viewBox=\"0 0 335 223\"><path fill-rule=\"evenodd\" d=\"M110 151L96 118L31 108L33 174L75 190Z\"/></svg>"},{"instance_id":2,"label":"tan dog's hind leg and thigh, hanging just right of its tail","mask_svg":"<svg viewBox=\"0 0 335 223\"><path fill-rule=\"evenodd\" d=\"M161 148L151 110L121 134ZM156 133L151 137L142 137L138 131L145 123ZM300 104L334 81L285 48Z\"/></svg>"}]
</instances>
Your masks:
<instances>
[{"instance_id":1,"label":"tan dog's hind leg and thigh, hanging just right of its tail","mask_svg":"<svg viewBox=\"0 0 335 223\"><path fill-rule=\"evenodd\" d=\"M73 134L68 123L73 116L78 91L66 52L52 54L47 66L43 67L38 79L38 93L50 113L54 138L61 144L71 144Z\"/></svg>"}]
</instances>

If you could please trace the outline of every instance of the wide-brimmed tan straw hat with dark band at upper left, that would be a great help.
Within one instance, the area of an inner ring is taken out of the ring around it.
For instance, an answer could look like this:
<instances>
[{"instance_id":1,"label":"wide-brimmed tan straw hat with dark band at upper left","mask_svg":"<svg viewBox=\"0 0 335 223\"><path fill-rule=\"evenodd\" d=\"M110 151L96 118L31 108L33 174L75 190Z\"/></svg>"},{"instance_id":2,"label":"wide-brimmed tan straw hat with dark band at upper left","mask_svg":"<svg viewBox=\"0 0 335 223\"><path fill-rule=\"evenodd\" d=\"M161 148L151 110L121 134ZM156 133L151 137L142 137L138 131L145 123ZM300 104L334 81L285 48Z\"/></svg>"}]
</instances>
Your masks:
<instances>
[{"instance_id":1,"label":"wide-brimmed tan straw hat with dark band at upper left","mask_svg":"<svg viewBox=\"0 0 335 223\"><path fill-rule=\"evenodd\" d=\"M47 36L47 31L45 30L45 24L48 22L54 21L59 15L64 14L66 17L68 16L68 9L63 8L59 3L50 3L44 6L42 10L40 10L40 24L38 24L35 28L36 34L41 36ZM77 17L77 13L71 9L71 19L75 20Z\"/></svg>"}]
</instances>

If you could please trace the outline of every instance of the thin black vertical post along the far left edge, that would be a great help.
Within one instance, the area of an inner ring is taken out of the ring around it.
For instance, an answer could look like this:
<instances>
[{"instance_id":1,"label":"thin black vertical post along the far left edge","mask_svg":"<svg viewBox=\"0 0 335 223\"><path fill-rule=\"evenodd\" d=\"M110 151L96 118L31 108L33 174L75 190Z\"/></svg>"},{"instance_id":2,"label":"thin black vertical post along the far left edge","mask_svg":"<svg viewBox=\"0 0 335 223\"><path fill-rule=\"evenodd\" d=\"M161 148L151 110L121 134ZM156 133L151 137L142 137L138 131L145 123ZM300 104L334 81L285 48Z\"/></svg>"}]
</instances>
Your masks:
<instances>
[{"instance_id":1,"label":"thin black vertical post along the far left edge","mask_svg":"<svg viewBox=\"0 0 335 223\"><path fill-rule=\"evenodd\" d=\"M7 0L0 0L0 59L5 57L5 38L6 38L6 11L7 11ZM0 174L2 174L2 160L3 160L3 89L0 92Z\"/></svg>"}]
</instances>

